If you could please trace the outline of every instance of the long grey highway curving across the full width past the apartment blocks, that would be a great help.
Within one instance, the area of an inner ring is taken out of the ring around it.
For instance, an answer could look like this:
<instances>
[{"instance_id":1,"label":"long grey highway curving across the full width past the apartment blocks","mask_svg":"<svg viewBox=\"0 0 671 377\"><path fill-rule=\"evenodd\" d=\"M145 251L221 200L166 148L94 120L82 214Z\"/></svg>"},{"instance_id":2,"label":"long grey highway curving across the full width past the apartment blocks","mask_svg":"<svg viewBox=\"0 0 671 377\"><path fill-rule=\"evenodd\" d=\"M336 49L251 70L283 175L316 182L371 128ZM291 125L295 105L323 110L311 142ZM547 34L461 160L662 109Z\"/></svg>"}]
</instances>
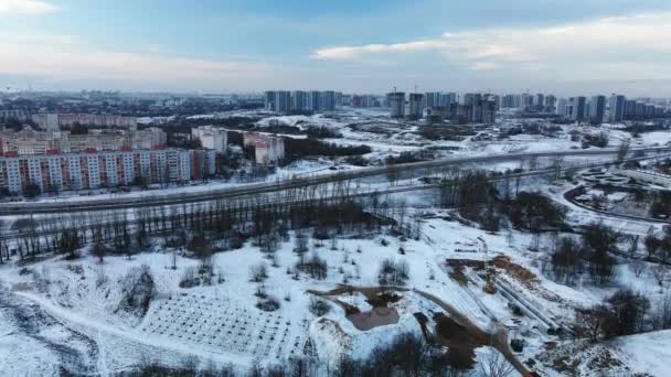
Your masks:
<instances>
[{"instance_id":1,"label":"long grey highway curving across the full width past the apartment blocks","mask_svg":"<svg viewBox=\"0 0 671 377\"><path fill-rule=\"evenodd\" d=\"M630 152L643 152L643 153L668 153L671 152L671 147L656 147L656 148L637 148L631 149ZM594 157L594 155L610 155L617 154L618 150L615 148L610 149L595 149L595 150L569 150L569 151L552 151L552 152L524 152L524 153L499 153L499 154L487 154L476 157L456 157L448 159L437 159L432 161L412 162L394 165L384 166L372 166L356 170L350 170L344 172L337 172L331 174L320 174L306 177L292 177L289 180L276 181L276 182L263 182L245 184L235 187L226 187L212 190L199 193L171 193L156 196L143 196L143 197L114 197L105 200L90 200L90 201L63 201L63 202L50 202L50 203L3 203L0 205L0 216L10 215L31 215L31 214L58 214L67 212L87 212L87 211L109 211L109 209L125 209L125 208L139 208L139 207L152 207L162 205L174 205L184 203L196 203L207 202L224 198L233 198L238 196L258 195L268 192L298 188L305 186L312 186L330 182L342 182L359 180L375 175L387 174L388 172L408 172L419 171L427 169L458 166L464 164L472 163L491 163L510 160L523 160L523 159L539 159L539 158L566 158L566 157Z\"/></svg>"}]
</instances>

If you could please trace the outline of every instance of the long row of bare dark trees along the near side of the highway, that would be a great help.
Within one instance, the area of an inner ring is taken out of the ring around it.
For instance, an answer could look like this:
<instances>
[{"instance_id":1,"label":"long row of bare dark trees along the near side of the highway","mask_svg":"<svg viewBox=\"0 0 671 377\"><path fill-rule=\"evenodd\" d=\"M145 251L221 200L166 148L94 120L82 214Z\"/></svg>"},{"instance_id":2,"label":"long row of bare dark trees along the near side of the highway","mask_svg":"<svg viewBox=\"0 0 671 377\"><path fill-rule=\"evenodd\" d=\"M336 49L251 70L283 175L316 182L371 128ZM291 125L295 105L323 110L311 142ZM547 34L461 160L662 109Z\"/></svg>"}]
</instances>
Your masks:
<instances>
[{"instance_id":1,"label":"long row of bare dark trees along the near side of the highway","mask_svg":"<svg viewBox=\"0 0 671 377\"><path fill-rule=\"evenodd\" d=\"M372 230L386 222L372 215L348 197L345 183L331 191L317 187L290 190L273 197L184 204L181 207L148 207L135 211L130 220L126 212L88 213L86 215L32 217L17 219L15 250L20 259L54 252L76 258L86 245L100 245L104 254L130 255L145 250L150 237L163 236L173 247L187 247L194 255L202 249L239 248L254 238L262 248L286 238L289 229L315 227L319 234ZM2 230L2 228L0 228ZM328 236L327 236L328 238ZM198 240L198 241L196 241ZM0 263L9 259L10 244L0 240Z\"/></svg>"}]
</instances>

